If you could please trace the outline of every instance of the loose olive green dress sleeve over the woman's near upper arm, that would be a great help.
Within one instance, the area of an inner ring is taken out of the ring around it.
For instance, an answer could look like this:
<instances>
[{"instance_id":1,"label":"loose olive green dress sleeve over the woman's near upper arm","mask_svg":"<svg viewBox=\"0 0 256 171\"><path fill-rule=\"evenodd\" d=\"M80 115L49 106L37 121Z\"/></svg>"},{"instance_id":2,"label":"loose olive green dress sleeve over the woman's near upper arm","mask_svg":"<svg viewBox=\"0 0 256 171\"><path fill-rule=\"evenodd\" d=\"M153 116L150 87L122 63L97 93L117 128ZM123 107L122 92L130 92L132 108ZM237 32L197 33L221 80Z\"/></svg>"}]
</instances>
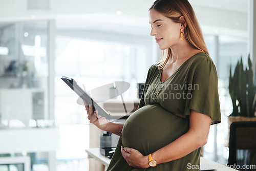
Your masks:
<instances>
[{"instance_id":1,"label":"loose olive green dress sleeve over the woman's near upper arm","mask_svg":"<svg viewBox=\"0 0 256 171\"><path fill-rule=\"evenodd\" d=\"M188 118L190 110L195 110L210 116L211 124L220 123L218 76L214 62L209 57L201 58L190 74L191 89L186 99L185 117Z\"/></svg>"}]
</instances>

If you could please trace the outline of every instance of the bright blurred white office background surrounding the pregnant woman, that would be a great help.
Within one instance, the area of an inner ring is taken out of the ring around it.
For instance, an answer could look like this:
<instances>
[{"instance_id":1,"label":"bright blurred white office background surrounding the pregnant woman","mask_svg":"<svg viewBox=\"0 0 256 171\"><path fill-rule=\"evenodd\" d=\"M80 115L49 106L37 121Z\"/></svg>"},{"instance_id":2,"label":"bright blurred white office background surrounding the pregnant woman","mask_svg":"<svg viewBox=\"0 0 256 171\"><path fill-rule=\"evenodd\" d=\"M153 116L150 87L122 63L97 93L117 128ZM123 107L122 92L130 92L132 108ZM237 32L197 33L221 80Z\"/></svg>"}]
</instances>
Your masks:
<instances>
[{"instance_id":1,"label":"bright blurred white office background surrounding the pregnant woman","mask_svg":"<svg viewBox=\"0 0 256 171\"><path fill-rule=\"evenodd\" d=\"M229 66L241 56L247 61L250 1L189 2L219 76L222 123L211 126L204 157L227 163ZM131 87L124 98L138 101L137 83L145 81L148 68L161 58L148 24L152 3L0 2L0 157L29 157L34 171L89 170L85 149L93 146L92 125L60 77L73 77L87 90L127 81Z\"/></svg>"}]
</instances>

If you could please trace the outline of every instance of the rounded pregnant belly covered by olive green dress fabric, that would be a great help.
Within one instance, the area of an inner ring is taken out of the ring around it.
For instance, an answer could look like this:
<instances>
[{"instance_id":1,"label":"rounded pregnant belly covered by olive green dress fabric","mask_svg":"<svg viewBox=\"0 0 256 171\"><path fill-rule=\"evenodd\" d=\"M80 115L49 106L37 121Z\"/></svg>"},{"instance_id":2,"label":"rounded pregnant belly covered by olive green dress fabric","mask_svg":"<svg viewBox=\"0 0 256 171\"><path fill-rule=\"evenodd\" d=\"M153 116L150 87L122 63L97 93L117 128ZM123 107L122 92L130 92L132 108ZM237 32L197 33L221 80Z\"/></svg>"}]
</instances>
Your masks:
<instances>
[{"instance_id":1,"label":"rounded pregnant belly covered by olive green dress fabric","mask_svg":"<svg viewBox=\"0 0 256 171\"><path fill-rule=\"evenodd\" d=\"M148 155L185 134L188 128L187 119L164 110L158 104L150 104L125 121L120 138L124 147Z\"/></svg>"}]
</instances>

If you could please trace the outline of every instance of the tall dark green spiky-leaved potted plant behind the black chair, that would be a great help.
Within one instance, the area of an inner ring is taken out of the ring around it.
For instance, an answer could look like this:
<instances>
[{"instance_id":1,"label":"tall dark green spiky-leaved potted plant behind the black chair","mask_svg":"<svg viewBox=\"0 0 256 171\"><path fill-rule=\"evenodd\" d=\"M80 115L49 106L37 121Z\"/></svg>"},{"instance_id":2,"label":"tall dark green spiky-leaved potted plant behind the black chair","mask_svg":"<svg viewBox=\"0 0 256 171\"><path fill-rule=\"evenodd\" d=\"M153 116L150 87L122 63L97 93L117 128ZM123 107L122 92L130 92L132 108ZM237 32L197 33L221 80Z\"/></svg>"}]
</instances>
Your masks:
<instances>
[{"instance_id":1,"label":"tall dark green spiky-leaved potted plant behind the black chair","mask_svg":"<svg viewBox=\"0 0 256 171\"><path fill-rule=\"evenodd\" d=\"M248 56L248 67L244 67L241 57L233 75L230 65L228 88L233 105L233 112L228 117L230 124L233 121L256 120L254 114L256 108L256 75L252 71L250 55Z\"/></svg>"}]
</instances>

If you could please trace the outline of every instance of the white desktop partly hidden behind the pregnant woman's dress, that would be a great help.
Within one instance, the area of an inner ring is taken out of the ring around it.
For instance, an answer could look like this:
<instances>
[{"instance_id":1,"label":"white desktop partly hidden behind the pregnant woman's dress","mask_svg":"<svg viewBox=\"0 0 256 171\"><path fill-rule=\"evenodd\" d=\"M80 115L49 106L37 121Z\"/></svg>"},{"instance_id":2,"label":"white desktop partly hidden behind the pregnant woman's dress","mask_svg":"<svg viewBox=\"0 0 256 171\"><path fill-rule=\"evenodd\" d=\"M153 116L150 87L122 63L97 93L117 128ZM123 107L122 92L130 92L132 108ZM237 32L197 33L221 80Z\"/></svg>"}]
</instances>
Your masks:
<instances>
[{"instance_id":1,"label":"white desktop partly hidden behind the pregnant woman's dress","mask_svg":"<svg viewBox=\"0 0 256 171\"><path fill-rule=\"evenodd\" d=\"M93 158L97 159L100 163L102 163L106 167L109 166L110 159L101 155L100 152L99 152L99 148L89 148L89 149L86 149L86 152L88 153L88 155L90 157L93 157ZM200 166L202 168L205 168L205 167L207 167L207 168L216 168L217 171L234 171L235 170L235 169L227 167L223 164L207 160L203 157L201 157Z\"/></svg>"}]
</instances>

